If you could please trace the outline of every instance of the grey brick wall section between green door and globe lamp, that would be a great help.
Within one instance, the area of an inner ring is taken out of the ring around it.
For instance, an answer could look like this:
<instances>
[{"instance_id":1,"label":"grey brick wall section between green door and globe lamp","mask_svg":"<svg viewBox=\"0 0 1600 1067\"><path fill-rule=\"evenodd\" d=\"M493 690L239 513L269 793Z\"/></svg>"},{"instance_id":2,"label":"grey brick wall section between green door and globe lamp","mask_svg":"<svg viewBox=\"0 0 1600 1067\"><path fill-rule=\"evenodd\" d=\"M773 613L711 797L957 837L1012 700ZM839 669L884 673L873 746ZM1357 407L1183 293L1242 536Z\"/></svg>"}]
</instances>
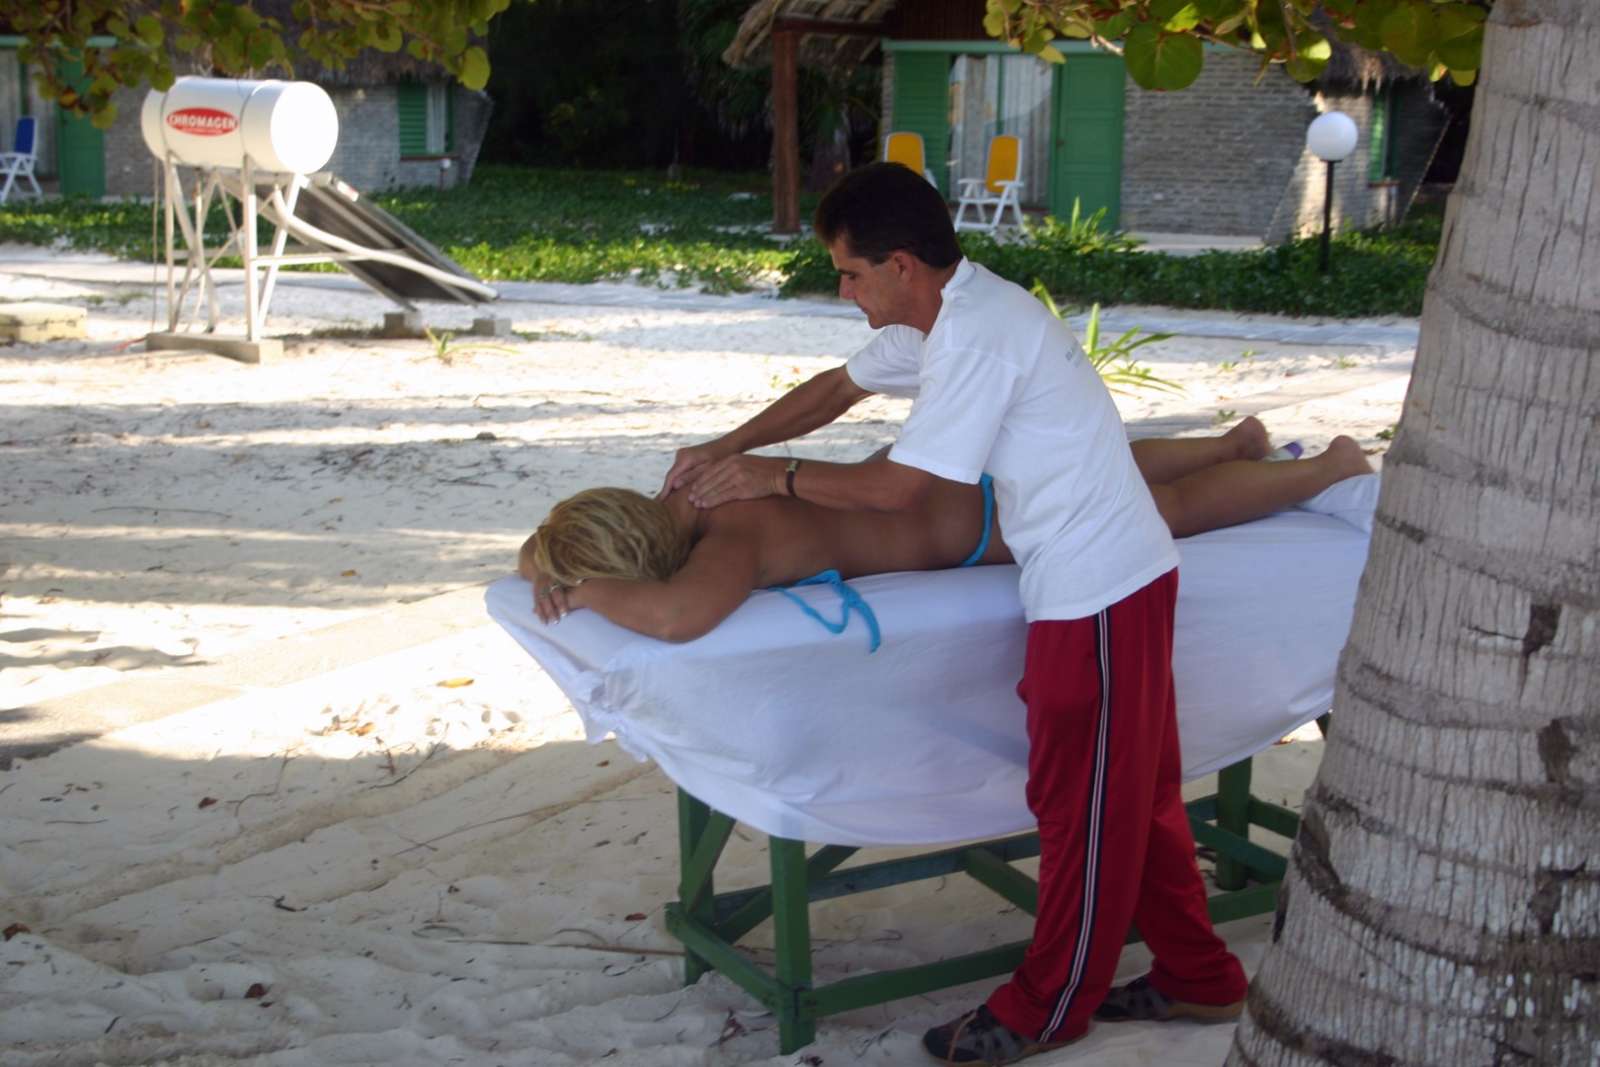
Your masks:
<instances>
[{"instance_id":1,"label":"grey brick wall section between green door and globe lamp","mask_svg":"<svg viewBox=\"0 0 1600 1067\"><path fill-rule=\"evenodd\" d=\"M1264 237L1317 117L1310 93L1274 67L1208 50L1178 93L1128 80L1122 229Z\"/></svg>"}]
</instances>

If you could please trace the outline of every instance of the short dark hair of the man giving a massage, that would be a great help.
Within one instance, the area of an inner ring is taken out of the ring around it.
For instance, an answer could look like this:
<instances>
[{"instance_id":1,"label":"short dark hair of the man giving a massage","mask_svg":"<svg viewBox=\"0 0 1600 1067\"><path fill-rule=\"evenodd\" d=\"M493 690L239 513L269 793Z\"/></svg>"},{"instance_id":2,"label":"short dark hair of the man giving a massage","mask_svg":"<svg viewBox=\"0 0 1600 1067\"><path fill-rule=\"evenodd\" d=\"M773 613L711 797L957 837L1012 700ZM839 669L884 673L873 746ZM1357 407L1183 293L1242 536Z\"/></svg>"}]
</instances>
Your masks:
<instances>
[{"instance_id":1,"label":"short dark hair of the man giving a massage","mask_svg":"<svg viewBox=\"0 0 1600 1067\"><path fill-rule=\"evenodd\" d=\"M901 250L930 267L962 258L944 197L899 163L867 163L840 178L816 205L811 226L824 245L843 237L853 254L872 264Z\"/></svg>"}]
</instances>

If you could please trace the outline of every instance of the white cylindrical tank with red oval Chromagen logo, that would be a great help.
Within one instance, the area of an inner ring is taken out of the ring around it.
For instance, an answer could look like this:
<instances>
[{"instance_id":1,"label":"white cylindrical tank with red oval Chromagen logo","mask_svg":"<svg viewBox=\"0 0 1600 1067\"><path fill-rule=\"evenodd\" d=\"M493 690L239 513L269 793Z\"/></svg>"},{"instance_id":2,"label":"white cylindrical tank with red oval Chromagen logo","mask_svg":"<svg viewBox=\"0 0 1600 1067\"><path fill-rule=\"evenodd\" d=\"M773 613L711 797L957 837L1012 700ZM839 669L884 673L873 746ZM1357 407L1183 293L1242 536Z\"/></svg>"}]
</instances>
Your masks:
<instances>
[{"instance_id":1,"label":"white cylindrical tank with red oval Chromagen logo","mask_svg":"<svg viewBox=\"0 0 1600 1067\"><path fill-rule=\"evenodd\" d=\"M310 82L178 78L150 91L139 112L144 142L190 166L253 166L309 174L339 142L339 114Z\"/></svg>"}]
</instances>

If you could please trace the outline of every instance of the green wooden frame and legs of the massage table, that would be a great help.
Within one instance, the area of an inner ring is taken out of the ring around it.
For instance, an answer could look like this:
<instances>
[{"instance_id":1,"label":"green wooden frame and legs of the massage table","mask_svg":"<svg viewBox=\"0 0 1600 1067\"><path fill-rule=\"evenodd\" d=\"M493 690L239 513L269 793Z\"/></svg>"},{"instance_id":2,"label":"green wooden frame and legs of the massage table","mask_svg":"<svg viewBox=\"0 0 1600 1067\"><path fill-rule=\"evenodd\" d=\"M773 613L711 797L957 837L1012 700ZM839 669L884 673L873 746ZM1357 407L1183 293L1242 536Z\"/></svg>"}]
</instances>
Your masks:
<instances>
[{"instance_id":1,"label":"green wooden frame and legs of the massage table","mask_svg":"<svg viewBox=\"0 0 1600 1067\"><path fill-rule=\"evenodd\" d=\"M1286 838L1293 838L1299 827L1296 813L1250 793L1250 760L1224 768L1218 774L1218 792L1187 805L1195 841L1216 854L1216 883L1222 891L1210 901L1214 923L1261 915L1277 904L1286 861L1251 843L1250 827L1259 825ZM848 870L837 869L858 851L854 848L826 845L806 856L803 841L768 837L771 885L717 893L712 875L733 825L730 816L678 790L680 899L667 904L667 931L683 942L685 985L699 981L706 971L718 971L778 1016L779 1054L810 1045L822 1016L1008 974L1022 961L1029 942L1016 941L936 963L813 985L810 904L965 872L1032 915L1038 905L1038 883L1011 864L1038 856L1037 833L958 845ZM739 937L768 918L773 920L776 955L771 969L754 963L736 947ZM1128 939L1138 941L1138 933Z\"/></svg>"}]
</instances>

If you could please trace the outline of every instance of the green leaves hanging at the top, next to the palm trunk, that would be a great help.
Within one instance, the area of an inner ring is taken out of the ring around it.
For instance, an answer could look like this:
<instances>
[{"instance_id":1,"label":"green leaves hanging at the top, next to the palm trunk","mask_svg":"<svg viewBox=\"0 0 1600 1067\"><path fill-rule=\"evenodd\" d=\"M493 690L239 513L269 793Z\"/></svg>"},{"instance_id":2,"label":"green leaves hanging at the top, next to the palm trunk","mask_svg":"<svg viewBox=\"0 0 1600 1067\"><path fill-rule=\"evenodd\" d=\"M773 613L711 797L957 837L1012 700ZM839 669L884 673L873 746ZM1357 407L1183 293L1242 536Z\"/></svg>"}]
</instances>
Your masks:
<instances>
[{"instance_id":1,"label":"green leaves hanging at the top, next to the palm trunk","mask_svg":"<svg viewBox=\"0 0 1600 1067\"><path fill-rule=\"evenodd\" d=\"M1322 74L1333 38L1470 85L1493 0L989 0L984 29L1022 51L1059 61L1056 38L1094 40L1123 53L1147 90L1181 90L1200 77L1205 42L1245 48L1262 69L1280 62L1298 82Z\"/></svg>"}]
</instances>

